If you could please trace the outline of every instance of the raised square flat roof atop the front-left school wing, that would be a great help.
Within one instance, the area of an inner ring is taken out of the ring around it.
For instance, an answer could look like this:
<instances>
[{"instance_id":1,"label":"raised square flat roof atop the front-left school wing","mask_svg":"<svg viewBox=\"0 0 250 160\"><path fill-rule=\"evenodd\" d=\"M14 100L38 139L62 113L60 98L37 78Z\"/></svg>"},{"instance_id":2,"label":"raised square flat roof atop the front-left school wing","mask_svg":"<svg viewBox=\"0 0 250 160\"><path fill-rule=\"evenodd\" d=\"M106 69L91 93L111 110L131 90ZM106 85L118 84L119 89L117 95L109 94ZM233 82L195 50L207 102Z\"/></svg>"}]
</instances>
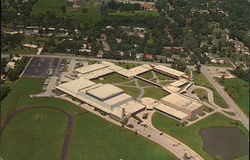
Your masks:
<instances>
[{"instance_id":1,"label":"raised square flat roof atop the front-left school wing","mask_svg":"<svg viewBox=\"0 0 250 160\"><path fill-rule=\"evenodd\" d=\"M107 99L122 92L124 91L121 88L111 84L104 84L95 89L88 90L86 93L99 99Z\"/></svg>"}]
</instances>

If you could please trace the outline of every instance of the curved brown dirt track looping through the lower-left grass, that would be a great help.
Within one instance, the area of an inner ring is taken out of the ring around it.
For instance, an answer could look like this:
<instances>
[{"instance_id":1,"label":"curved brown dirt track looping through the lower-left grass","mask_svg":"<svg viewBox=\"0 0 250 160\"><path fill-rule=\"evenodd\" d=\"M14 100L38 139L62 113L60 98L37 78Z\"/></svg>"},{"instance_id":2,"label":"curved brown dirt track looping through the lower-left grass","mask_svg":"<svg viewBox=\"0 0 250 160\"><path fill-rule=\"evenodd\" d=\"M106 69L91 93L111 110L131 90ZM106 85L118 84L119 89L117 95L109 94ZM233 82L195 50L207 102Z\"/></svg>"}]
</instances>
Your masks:
<instances>
[{"instance_id":1,"label":"curved brown dirt track looping through the lower-left grass","mask_svg":"<svg viewBox=\"0 0 250 160\"><path fill-rule=\"evenodd\" d=\"M64 113L67 116L68 123L67 123L67 127L66 127L66 130L65 130L65 137L64 137L64 142L63 142L63 148L62 148L61 157L60 157L60 160L66 160L67 159L67 155L69 153L70 145L71 145L73 124L74 124L74 117L69 112L67 112L65 110L62 110L60 108L48 107L48 106L32 106L32 107L27 107L27 108L22 108L22 109L19 109L19 110L15 110L14 112L10 113L3 120L3 122L1 122L0 136L2 135L4 129L6 128L6 126L10 122L10 120L12 118L14 118L18 113L22 113L24 111L28 111L28 110L31 110L31 109L40 109L40 108L57 110L59 112Z\"/></svg>"}]
</instances>

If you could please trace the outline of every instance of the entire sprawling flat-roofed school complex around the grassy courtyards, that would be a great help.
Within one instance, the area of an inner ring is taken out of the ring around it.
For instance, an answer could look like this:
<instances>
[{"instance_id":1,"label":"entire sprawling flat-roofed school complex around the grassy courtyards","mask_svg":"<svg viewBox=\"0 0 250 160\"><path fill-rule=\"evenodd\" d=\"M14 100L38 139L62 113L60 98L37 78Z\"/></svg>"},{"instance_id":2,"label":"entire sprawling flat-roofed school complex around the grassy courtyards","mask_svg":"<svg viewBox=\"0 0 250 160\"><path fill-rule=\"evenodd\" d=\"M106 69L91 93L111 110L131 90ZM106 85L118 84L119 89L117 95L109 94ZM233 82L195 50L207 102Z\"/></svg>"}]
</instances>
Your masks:
<instances>
[{"instance_id":1,"label":"entire sprawling flat-roofed school complex around the grassy courtyards","mask_svg":"<svg viewBox=\"0 0 250 160\"><path fill-rule=\"evenodd\" d=\"M172 88L181 87L189 82L185 73L162 65L144 64L131 69L124 69L111 62L102 61L101 63L75 69L74 72L78 79L62 83L55 88L72 99L87 103L95 109L107 113L113 119L120 121L144 110L147 105L135 101L119 87L111 84L94 83L91 80L111 73L117 73L126 78L136 78L148 71L156 71L177 79L177 81L168 85ZM193 118L203 108L202 104L197 100L175 92L171 92L171 94L163 97L150 107L178 121Z\"/></svg>"}]
</instances>

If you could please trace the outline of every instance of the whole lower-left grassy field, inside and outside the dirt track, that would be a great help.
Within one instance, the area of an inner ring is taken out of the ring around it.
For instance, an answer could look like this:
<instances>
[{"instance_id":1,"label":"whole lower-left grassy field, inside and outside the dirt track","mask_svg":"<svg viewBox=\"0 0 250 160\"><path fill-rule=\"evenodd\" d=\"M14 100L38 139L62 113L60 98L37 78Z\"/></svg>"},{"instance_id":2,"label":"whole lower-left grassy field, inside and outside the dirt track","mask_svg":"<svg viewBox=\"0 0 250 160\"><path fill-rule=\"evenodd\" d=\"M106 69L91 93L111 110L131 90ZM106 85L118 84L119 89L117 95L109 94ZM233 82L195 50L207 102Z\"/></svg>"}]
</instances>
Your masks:
<instances>
[{"instance_id":1,"label":"whole lower-left grassy field, inside and outside the dirt track","mask_svg":"<svg viewBox=\"0 0 250 160\"><path fill-rule=\"evenodd\" d=\"M72 160L117 160L123 157L176 159L167 150L143 137L113 126L91 113L82 114L86 111L72 103L54 98L30 98L29 94L41 92L43 81L27 78L18 80L13 90L1 101L1 120L15 109L38 105L58 107L76 117L70 152ZM1 137L0 146L4 148L1 148L1 157L14 160L59 159L65 118L60 112L48 109L34 109L18 114L10 121ZM137 154L137 151L141 154Z\"/></svg>"}]
</instances>

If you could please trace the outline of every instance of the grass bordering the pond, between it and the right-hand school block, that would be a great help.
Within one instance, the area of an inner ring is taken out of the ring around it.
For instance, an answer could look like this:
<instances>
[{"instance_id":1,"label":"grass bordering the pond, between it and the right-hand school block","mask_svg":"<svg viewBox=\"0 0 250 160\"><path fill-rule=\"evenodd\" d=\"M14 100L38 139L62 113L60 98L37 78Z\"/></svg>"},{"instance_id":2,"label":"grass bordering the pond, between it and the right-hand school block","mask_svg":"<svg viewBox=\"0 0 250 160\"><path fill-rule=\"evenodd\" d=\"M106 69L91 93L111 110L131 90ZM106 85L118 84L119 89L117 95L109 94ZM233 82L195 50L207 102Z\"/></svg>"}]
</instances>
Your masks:
<instances>
[{"instance_id":1,"label":"grass bordering the pond, between it and the right-hand school block","mask_svg":"<svg viewBox=\"0 0 250 160\"><path fill-rule=\"evenodd\" d=\"M232 122L231 119L226 118L221 114L213 114L189 127L182 127L181 125L177 126L175 120L167 118L159 113L154 114L152 120L153 125L157 129L177 138L181 142L184 142L206 160L212 160L212 157L202 149L203 141L199 136L200 130L216 126L236 127L236 124ZM241 123L237 127L248 136L248 131Z\"/></svg>"}]
</instances>

